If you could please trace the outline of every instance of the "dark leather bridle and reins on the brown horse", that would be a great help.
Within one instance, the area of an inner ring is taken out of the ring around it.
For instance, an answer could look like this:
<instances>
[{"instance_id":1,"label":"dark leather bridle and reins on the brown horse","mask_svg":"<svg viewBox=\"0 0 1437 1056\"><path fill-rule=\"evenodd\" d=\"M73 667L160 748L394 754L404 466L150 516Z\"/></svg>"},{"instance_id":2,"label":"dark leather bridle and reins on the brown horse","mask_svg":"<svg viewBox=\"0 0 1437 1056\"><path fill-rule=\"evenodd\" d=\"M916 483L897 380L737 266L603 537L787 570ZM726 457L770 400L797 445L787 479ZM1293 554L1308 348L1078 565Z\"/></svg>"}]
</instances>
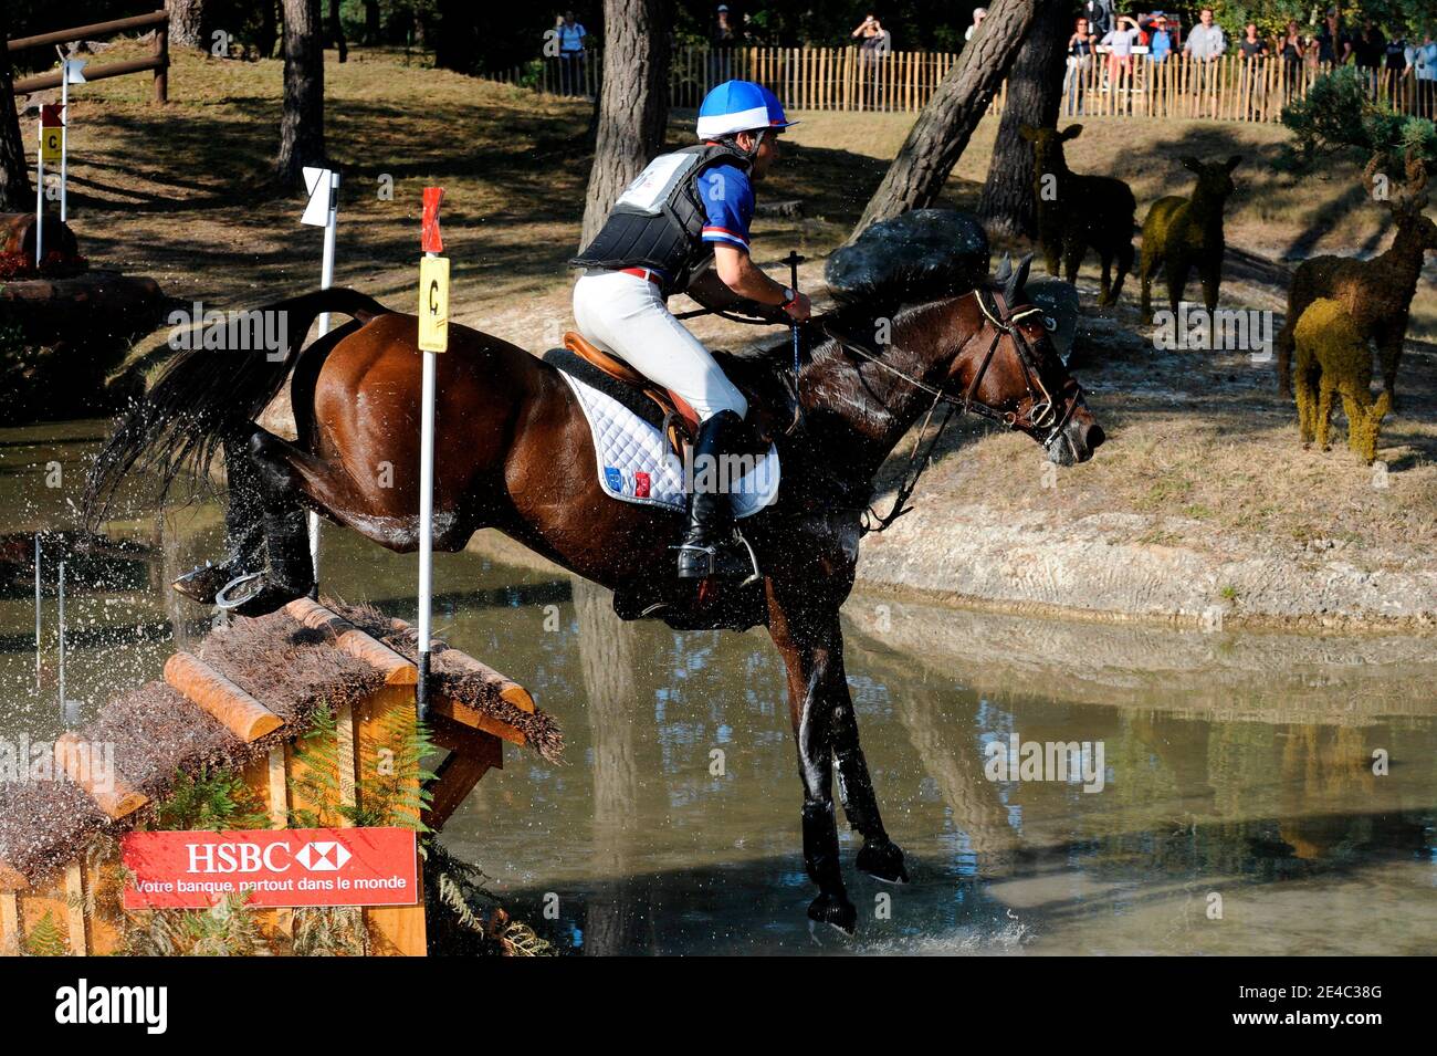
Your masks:
<instances>
[{"instance_id":1,"label":"dark leather bridle and reins on the brown horse","mask_svg":"<svg viewBox=\"0 0 1437 1056\"><path fill-rule=\"evenodd\" d=\"M956 397L943 385L930 385L928 382L904 374L898 368L888 362L878 353L864 348L861 342L854 341L848 335L839 335L833 332L832 326L825 326L825 332L836 341L839 345L846 348L849 352L867 359L868 362L882 368L888 374L908 382L914 388L918 388L933 397L933 402L928 405L928 411L923 420L923 428L918 430L918 441L912 447L912 453L908 455L908 466L904 467L902 483L894 497L892 509L887 514L878 514L872 506L864 511L864 533L868 532L882 532L901 516L912 510L911 506L904 506L908 501L912 490L918 486L918 477L923 476L923 470L927 467L928 460L933 457L934 450L938 445L938 440L943 437L943 431L948 427L954 411L963 411L963 414L974 414L980 418L987 418L992 422L1006 425L1010 430L1020 430L1029 435L1038 438L1038 443L1043 445L1043 450L1050 450L1053 441L1063 437L1063 430L1068 428L1068 422L1072 421L1073 412L1078 409L1078 404L1082 402L1083 389L1078 385L1078 391L1073 398L1058 412L1052 394L1049 394L1048 386L1043 384L1043 372L1038 361L1038 353L1033 349L1032 342L1029 342L1027 335L1023 333L1022 328L1017 325L1023 319L1035 315L1040 315L1042 309L1032 305L1023 305L1010 309L1002 293L993 293L992 290L973 290L973 299L977 302L979 310L983 312L983 318L989 320L993 326L993 339L989 342L987 351L983 353L983 359L979 362L977 371L973 372L973 379L969 382L961 397ZM992 307L989 306L986 297L993 299ZM1055 325L1045 316L1043 325L1049 330L1055 329ZM957 355L963 353L969 342L979 336L981 330L969 335L969 338L958 346ZM999 346L1003 339L1007 338L1013 346L1017 356L1019 366L1023 371L1023 385L1027 389L1027 409L1023 414L1016 411L999 411L996 407L984 404L977 398L979 388L983 384L983 376L987 374L989 365L993 362L993 356L997 353ZM946 404L947 409L944 412L943 421L938 422L938 431L933 434L933 440L928 441L927 451L920 457L923 450L923 437L928 431L928 424L933 421L933 415L938 408L938 404ZM1039 432L1046 430L1046 435L1039 437ZM1072 441L1068 441L1069 445ZM1078 453L1073 451L1076 455Z\"/></svg>"}]
</instances>

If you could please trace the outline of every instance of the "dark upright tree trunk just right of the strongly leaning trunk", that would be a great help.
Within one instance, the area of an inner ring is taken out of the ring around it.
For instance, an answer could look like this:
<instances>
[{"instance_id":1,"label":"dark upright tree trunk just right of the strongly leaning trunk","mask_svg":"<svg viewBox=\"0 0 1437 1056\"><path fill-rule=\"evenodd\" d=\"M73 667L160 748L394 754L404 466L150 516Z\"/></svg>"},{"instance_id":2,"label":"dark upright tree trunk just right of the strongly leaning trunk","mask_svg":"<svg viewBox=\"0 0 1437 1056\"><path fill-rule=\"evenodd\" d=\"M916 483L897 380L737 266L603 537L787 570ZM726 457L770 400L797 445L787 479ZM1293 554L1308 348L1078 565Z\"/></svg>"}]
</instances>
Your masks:
<instances>
[{"instance_id":1,"label":"dark upright tree trunk just right of the strongly leaning trunk","mask_svg":"<svg viewBox=\"0 0 1437 1056\"><path fill-rule=\"evenodd\" d=\"M1033 148L1017 129L1020 125L1046 128L1056 124L1072 22L1068 3L1043 4L1013 60L1003 118L993 144L993 162L979 200L979 217L993 234L1038 234Z\"/></svg>"}]
</instances>

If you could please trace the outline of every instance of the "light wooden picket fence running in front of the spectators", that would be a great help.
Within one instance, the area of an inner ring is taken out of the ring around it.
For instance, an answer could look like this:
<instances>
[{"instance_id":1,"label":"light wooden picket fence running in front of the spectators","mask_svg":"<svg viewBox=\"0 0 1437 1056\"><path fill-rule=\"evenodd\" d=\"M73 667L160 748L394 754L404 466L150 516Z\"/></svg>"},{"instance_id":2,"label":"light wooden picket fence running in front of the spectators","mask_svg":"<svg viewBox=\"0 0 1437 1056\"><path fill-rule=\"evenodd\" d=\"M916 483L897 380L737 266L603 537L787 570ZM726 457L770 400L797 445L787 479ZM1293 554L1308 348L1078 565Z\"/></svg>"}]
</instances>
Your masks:
<instances>
[{"instance_id":1,"label":"light wooden picket fence running in front of the spectators","mask_svg":"<svg viewBox=\"0 0 1437 1056\"><path fill-rule=\"evenodd\" d=\"M1249 60L1224 55L1198 62L1183 53L1152 62L1144 53L1129 63L1108 55L1069 65L1063 78L1063 116L1210 118L1217 121L1277 121L1282 108L1300 99L1331 65L1288 63L1277 57ZM670 72L670 105L696 108L714 85L731 78L772 88L795 111L921 111L957 62L956 52L890 52L856 47L680 47ZM602 78L598 49L583 59L545 59L487 79L546 95L593 96ZM1372 98L1417 114L1431 106L1418 95L1418 82L1372 72ZM1431 91L1431 89L1430 89ZM1437 95L1437 92L1433 92ZM1007 83L993 99L1000 114Z\"/></svg>"}]
</instances>

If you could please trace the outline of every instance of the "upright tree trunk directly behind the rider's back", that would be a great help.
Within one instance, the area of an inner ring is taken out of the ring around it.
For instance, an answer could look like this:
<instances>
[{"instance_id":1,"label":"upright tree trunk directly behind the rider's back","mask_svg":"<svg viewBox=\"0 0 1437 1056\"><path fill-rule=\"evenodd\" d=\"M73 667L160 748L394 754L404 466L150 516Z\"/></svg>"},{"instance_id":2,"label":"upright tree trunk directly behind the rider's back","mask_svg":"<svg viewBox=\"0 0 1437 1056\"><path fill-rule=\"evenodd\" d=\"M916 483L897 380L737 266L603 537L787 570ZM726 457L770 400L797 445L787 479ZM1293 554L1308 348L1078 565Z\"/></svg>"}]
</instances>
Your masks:
<instances>
[{"instance_id":1,"label":"upright tree trunk directly behind the rider's back","mask_svg":"<svg viewBox=\"0 0 1437 1056\"><path fill-rule=\"evenodd\" d=\"M671 14L668 0L604 0L604 83L581 246L664 147Z\"/></svg>"}]
</instances>

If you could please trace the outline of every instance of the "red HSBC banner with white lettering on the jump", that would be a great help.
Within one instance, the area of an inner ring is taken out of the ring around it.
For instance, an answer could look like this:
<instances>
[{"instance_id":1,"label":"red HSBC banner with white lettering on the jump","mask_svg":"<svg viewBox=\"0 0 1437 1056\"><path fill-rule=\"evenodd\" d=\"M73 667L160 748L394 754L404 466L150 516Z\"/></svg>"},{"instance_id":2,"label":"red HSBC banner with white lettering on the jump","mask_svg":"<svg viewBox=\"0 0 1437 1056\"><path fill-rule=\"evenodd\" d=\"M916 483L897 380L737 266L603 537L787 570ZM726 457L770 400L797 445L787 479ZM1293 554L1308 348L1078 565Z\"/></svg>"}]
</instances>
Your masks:
<instances>
[{"instance_id":1,"label":"red HSBC banner with white lettering on the jump","mask_svg":"<svg viewBox=\"0 0 1437 1056\"><path fill-rule=\"evenodd\" d=\"M132 832L121 861L126 909L208 909L241 891L251 907L420 901L412 829Z\"/></svg>"}]
</instances>

